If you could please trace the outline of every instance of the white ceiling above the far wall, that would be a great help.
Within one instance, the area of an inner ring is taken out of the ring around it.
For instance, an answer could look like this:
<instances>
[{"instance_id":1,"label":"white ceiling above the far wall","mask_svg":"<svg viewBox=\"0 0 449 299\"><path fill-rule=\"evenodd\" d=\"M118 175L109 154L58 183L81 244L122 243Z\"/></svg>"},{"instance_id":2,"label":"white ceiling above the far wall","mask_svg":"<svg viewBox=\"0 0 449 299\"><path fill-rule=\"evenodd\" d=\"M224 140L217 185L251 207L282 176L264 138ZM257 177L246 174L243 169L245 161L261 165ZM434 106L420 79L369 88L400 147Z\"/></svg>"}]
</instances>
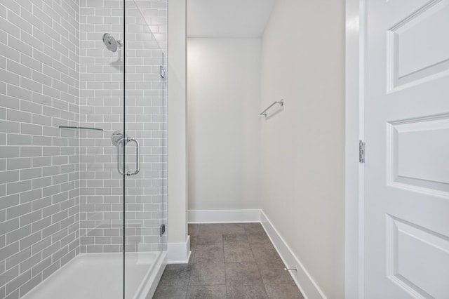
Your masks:
<instances>
[{"instance_id":1,"label":"white ceiling above the far wall","mask_svg":"<svg viewBox=\"0 0 449 299\"><path fill-rule=\"evenodd\" d=\"M276 0L187 0L187 36L258 38Z\"/></svg>"}]
</instances>

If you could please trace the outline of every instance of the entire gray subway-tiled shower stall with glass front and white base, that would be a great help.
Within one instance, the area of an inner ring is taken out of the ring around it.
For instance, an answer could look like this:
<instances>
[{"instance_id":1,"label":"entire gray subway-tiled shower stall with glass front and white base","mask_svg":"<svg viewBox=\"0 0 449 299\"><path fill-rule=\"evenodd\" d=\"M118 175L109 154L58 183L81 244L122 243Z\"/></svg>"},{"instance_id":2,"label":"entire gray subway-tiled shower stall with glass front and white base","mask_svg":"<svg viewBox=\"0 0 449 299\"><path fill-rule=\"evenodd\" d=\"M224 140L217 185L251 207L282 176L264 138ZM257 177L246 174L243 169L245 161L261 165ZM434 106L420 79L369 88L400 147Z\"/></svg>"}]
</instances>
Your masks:
<instances>
[{"instance_id":1,"label":"entire gray subway-tiled shower stall with glass front and white base","mask_svg":"<svg viewBox=\"0 0 449 299\"><path fill-rule=\"evenodd\" d=\"M151 298L166 0L0 3L0 298Z\"/></svg>"}]
</instances>

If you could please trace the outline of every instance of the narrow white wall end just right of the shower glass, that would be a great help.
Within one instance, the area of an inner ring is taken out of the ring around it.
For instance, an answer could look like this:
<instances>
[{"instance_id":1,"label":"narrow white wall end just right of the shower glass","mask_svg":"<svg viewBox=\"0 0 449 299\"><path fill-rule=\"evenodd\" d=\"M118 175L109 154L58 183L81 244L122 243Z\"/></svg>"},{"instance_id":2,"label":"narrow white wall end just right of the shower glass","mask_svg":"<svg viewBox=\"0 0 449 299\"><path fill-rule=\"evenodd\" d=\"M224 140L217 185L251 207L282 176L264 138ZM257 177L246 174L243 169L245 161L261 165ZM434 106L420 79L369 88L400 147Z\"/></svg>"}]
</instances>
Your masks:
<instances>
[{"instance_id":1,"label":"narrow white wall end just right of the shower glass","mask_svg":"<svg viewBox=\"0 0 449 299\"><path fill-rule=\"evenodd\" d=\"M186 1L168 1L168 260L187 261ZM173 248L184 247L183 252Z\"/></svg>"}]
</instances>

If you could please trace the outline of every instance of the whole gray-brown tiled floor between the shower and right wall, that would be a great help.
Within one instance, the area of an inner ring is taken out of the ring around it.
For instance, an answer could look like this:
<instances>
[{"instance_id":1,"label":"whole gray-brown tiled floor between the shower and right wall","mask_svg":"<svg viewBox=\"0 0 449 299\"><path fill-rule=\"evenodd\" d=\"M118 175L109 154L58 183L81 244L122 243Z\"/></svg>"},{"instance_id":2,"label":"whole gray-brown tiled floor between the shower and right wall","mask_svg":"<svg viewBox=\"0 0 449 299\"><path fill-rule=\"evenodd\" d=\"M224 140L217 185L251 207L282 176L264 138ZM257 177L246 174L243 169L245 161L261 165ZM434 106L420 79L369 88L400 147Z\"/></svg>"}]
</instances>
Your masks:
<instances>
[{"instance_id":1,"label":"whole gray-brown tiled floor between the shower and right wall","mask_svg":"<svg viewBox=\"0 0 449 299\"><path fill-rule=\"evenodd\" d=\"M167 265L155 299L304 299L259 223L189 225L188 265Z\"/></svg>"}]
</instances>

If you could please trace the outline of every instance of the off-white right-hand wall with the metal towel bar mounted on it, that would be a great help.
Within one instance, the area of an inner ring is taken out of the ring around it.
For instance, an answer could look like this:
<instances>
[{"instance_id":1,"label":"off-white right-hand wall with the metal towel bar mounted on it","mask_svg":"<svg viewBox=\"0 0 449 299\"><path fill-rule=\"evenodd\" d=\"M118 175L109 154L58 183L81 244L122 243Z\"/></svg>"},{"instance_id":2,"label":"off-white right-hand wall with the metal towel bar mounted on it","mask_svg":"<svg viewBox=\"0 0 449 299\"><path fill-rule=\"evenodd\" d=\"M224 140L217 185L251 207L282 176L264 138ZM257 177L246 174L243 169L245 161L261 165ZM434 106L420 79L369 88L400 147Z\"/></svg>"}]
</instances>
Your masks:
<instances>
[{"instance_id":1,"label":"off-white right-hand wall with the metal towel bar mounted on it","mask_svg":"<svg viewBox=\"0 0 449 299\"><path fill-rule=\"evenodd\" d=\"M279 0L262 38L262 210L328 298L344 298L344 1Z\"/></svg>"}]
</instances>

